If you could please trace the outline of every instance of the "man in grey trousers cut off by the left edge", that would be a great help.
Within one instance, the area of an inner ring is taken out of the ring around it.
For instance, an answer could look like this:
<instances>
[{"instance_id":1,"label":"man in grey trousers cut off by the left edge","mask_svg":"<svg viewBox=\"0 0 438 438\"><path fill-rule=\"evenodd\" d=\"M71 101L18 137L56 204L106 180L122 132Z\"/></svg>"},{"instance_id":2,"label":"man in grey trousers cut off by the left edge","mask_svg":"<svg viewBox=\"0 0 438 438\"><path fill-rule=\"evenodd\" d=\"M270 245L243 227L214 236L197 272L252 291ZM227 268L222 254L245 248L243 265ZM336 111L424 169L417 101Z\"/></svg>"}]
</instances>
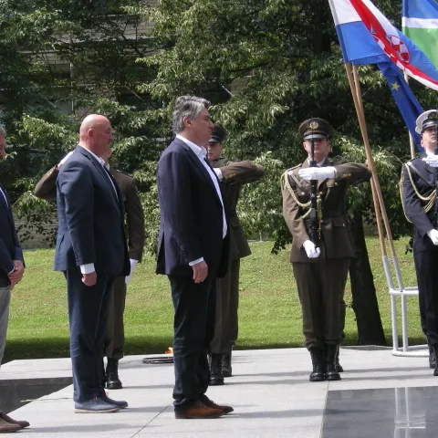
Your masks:
<instances>
[{"instance_id":1,"label":"man in grey trousers cut off by the left edge","mask_svg":"<svg viewBox=\"0 0 438 438\"><path fill-rule=\"evenodd\" d=\"M5 137L5 128L0 125L0 161L6 156ZM0 184L0 365L5 353L11 290L21 280L24 272L25 261L16 236L11 201ZM4 412L0 412L0 433L16 432L28 425L28 422L13 420Z\"/></svg>"}]
</instances>

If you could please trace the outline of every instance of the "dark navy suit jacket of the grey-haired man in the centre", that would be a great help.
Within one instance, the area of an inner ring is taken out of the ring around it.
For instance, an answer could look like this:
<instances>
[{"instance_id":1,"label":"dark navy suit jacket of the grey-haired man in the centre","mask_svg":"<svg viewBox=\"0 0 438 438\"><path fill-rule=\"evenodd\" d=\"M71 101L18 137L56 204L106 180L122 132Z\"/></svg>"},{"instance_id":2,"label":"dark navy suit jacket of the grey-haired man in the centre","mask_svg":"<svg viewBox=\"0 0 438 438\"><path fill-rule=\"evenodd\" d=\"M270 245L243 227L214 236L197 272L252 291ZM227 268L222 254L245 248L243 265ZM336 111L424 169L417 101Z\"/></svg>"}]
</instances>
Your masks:
<instances>
[{"instance_id":1,"label":"dark navy suit jacket of the grey-haired man in the centre","mask_svg":"<svg viewBox=\"0 0 438 438\"><path fill-rule=\"evenodd\" d=\"M222 203L209 172L184 141L175 139L162 152L157 185L157 273L193 276L189 263L203 257L209 274L224 276L228 239L223 239Z\"/></svg>"}]
</instances>

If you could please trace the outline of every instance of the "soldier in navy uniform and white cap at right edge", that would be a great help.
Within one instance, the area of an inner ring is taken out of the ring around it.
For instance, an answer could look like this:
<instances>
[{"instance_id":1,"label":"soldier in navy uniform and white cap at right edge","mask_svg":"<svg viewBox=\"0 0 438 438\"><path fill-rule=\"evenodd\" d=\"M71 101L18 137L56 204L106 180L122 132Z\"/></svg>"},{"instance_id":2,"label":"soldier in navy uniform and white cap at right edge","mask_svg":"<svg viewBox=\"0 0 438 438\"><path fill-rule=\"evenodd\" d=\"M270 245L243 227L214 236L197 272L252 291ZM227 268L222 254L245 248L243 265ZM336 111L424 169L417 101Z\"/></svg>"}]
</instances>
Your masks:
<instances>
[{"instance_id":1,"label":"soldier in navy uniform and white cap at right edge","mask_svg":"<svg viewBox=\"0 0 438 438\"><path fill-rule=\"evenodd\" d=\"M424 153L406 162L401 174L401 201L413 225L413 262L417 275L422 331L429 345L429 366L438 376L438 155L434 155L438 111L423 112L415 130L422 136Z\"/></svg>"}]
</instances>

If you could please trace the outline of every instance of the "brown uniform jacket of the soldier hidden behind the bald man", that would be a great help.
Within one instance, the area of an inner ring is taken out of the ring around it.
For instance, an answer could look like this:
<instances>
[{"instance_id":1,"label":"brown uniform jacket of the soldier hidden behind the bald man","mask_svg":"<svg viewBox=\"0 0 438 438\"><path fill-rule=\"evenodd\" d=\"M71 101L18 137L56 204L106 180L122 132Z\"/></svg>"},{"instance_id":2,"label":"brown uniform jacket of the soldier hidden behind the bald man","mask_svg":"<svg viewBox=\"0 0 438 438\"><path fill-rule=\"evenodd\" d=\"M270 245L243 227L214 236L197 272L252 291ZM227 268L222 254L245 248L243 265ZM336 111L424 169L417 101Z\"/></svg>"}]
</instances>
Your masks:
<instances>
[{"instance_id":1,"label":"brown uniform jacket of the soldier hidden behind the bald man","mask_svg":"<svg viewBox=\"0 0 438 438\"><path fill-rule=\"evenodd\" d=\"M35 186L34 194L46 201L57 200L57 166L52 167ZM130 258L141 261L144 246L144 214L135 180L125 172L110 167L110 173L118 183L125 207L128 224L128 249Z\"/></svg>"}]
</instances>

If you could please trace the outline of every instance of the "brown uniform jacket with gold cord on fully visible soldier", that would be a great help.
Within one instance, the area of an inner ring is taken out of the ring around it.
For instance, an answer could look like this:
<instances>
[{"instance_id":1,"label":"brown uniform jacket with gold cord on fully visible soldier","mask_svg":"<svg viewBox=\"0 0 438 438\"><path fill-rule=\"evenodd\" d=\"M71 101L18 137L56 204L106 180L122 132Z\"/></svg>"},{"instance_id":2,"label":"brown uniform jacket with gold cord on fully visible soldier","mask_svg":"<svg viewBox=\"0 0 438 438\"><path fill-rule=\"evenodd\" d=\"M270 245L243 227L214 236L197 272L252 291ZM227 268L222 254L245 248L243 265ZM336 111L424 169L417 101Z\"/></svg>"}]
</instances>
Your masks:
<instances>
[{"instance_id":1,"label":"brown uniform jacket with gold cord on fully visible soldier","mask_svg":"<svg viewBox=\"0 0 438 438\"><path fill-rule=\"evenodd\" d=\"M363 164L355 162L333 164L327 158L323 166L334 166L337 176L318 180L317 187L322 211L322 218L319 222L321 245L325 246L328 258L353 257L354 244L347 216L347 188L348 184L369 181L371 172ZM306 167L308 167L308 160L289 169L281 179L283 216L292 235L290 253L292 263L318 262L318 258L308 258L302 247L306 240L310 240L310 219L303 218L308 213L308 207L302 207L299 203L306 204L310 201L310 182L300 178L298 170Z\"/></svg>"}]
</instances>

